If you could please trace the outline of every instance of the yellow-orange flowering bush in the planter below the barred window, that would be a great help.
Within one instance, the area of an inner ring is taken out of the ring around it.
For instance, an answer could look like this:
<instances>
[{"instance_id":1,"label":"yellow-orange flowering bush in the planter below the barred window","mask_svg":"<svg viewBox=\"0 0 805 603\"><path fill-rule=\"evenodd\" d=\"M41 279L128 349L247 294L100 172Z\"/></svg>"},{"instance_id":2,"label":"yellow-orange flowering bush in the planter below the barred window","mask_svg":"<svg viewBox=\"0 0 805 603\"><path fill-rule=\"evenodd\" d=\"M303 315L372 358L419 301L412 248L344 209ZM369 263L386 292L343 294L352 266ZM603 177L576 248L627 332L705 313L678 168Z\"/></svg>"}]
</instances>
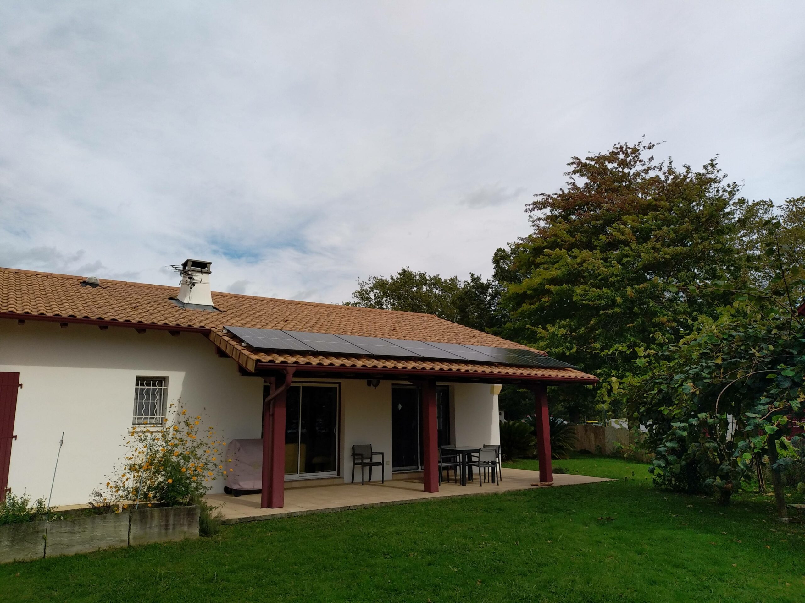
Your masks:
<instances>
[{"instance_id":1,"label":"yellow-orange flowering bush in the planter below the barred window","mask_svg":"<svg viewBox=\"0 0 805 603\"><path fill-rule=\"evenodd\" d=\"M171 404L163 425L143 425L126 435L128 452L114 477L94 490L90 505L122 511L132 503L148 507L200 503L216 478L226 474L226 442L201 415L181 401Z\"/></svg>"}]
</instances>

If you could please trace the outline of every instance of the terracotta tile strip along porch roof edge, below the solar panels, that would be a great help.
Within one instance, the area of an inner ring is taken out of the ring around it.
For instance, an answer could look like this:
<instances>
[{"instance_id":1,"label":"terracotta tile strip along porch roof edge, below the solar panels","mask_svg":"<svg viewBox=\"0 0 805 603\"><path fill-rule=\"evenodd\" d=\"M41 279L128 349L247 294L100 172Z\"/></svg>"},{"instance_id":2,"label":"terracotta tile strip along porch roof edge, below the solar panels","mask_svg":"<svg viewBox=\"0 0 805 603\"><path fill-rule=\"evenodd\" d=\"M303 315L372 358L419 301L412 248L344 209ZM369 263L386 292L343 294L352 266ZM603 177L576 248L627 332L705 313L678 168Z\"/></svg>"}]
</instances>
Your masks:
<instances>
[{"instance_id":1,"label":"terracotta tile strip along porch roof edge, below the solar panels","mask_svg":"<svg viewBox=\"0 0 805 603\"><path fill-rule=\"evenodd\" d=\"M462 363L443 360L377 358L365 355L322 355L250 350L221 330L213 329L210 340L250 373L283 371L345 379L439 379L468 382L555 382L595 384L597 378L573 368L514 367L497 363Z\"/></svg>"}]
</instances>

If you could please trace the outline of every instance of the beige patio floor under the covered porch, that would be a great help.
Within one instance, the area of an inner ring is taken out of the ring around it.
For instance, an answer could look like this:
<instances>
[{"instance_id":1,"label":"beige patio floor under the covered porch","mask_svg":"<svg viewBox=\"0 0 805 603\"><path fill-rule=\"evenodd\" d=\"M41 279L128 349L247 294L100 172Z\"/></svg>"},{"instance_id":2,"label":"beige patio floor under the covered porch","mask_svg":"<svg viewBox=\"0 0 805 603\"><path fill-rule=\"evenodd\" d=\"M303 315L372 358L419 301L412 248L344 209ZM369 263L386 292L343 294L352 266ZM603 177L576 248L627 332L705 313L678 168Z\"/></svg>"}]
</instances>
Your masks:
<instances>
[{"instance_id":1,"label":"beige patio floor under the covered porch","mask_svg":"<svg viewBox=\"0 0 805 603\"><path fill-rule=\"evenodd\" d=\"M503 470L503 479L498 484L484 482L468 482L461 486L453 482L442 482L439 492L423 491L422 478L402 478L386 480L385 484L367 482L342 483L327 486L306 486L287 488L285 490L285 507L281 509L261 509L260 494L244 494L234 497L229 494L210 494L207 502L221 507L224 523L241 523L262 521L263 519L279 519L295 515L311 513L332 513L349 509L368 507L384 507L415 503L431 498L456 498L477 494L495 494L512 490L530 490L532 483L539 481L539 472L523 469ZM595 482L609 482L607 478L589 478L584 475L555 474L554 484L557 486L574 486ZM312 483L315 483L311 481Z\"/></svg>"}]
</instances>

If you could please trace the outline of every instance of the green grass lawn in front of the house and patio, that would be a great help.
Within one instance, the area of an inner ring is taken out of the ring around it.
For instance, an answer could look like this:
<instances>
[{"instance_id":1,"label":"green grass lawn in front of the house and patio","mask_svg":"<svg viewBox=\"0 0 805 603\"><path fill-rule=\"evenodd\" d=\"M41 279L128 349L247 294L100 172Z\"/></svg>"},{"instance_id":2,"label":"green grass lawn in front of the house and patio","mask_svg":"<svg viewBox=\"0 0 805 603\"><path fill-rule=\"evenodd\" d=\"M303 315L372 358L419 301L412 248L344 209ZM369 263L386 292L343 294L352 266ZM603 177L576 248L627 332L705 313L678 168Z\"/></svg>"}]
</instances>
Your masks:
<instances>
[{"instance_id":1,"label":"green grass lawn in front of the house and patio","mask_svg":"<svg viewBox=\"0 0 805 603\"><path fill-rule=\"evenodd\" d=\"M525 467L520 461L513 466ZM803 601L800 524L628 478L225 527L214 539L0 566L2 601Z\"/></svg>"}]
</instances>

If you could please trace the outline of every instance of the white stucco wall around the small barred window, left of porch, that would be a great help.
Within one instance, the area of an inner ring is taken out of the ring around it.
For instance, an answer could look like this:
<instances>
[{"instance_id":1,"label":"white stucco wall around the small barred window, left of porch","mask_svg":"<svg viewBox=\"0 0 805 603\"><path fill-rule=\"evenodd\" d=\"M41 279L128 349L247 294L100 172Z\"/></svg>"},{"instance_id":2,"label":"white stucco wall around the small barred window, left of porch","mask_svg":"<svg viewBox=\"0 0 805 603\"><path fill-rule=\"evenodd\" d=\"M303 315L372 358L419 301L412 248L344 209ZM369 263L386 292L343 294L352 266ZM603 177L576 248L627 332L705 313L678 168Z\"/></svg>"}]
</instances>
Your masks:
<instances>
[{"instance_id":1,"label":"white stucco wall around the small barred window, left of porch","mask_svg":"<svg viewBox=\"0 0 805 603\"><path fill-rule=\"evenodd\" d=\"M242 377L200 334L0 320L0 371L20 373L9 486L52 504L81 504L122 456L137 376L165 376L170 402L203 412L227 441L260 437L262 379ZM213 482L213 491L223 482Z\"/></svg>"}]
</instances>

